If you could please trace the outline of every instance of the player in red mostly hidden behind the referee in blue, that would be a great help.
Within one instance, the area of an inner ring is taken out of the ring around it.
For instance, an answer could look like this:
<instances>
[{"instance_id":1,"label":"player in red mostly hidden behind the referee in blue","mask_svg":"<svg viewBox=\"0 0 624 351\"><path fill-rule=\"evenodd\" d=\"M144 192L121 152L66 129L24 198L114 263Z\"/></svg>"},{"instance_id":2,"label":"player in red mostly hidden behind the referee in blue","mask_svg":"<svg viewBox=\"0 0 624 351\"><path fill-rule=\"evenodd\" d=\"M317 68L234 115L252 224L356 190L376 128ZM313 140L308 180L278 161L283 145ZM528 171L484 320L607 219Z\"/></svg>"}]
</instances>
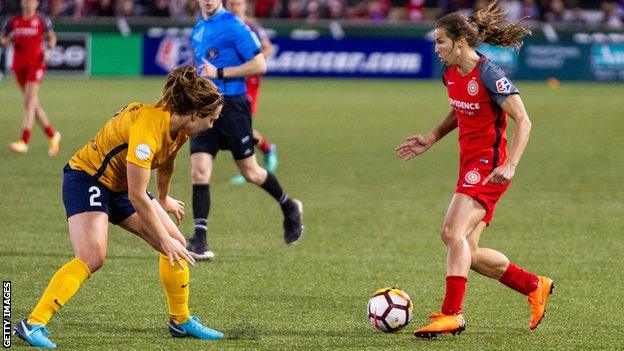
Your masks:
<instances>
[{"instance_id":1,"label":"player in red mostly hidden behind the referee in blue","mask_svg":"<svg viewBox=\"0 0 624 351\"><path fill-rule=\"evenodd\" d=\"M258 21L247 16L247 0L228 0L226 2L227 9L230 10L233 14L235 14L238 18L243 20L249 29L251 29L260 40L260 45L262 47L262 55L267 58L273 54L273 44L271 44L271 40L269 40L269 36L266 31ZM245 79L246 88L247 88L247 97L251 102L251 115L256 115L256 109L258 105L258 94L260 93L260 83L262 82L262 75L256 74L253 76L247 76ZM264 168L271 172L275 173L277 169L277 146L275 144L270 143L264 135L262 135L258 130L253 130L253 138L256 144L256 147L262 152L264 155ZM233 184L244 184L246 182L245 177L242 174L238 174L236 177L230 180Z\"/></svg>"}]
</instances>

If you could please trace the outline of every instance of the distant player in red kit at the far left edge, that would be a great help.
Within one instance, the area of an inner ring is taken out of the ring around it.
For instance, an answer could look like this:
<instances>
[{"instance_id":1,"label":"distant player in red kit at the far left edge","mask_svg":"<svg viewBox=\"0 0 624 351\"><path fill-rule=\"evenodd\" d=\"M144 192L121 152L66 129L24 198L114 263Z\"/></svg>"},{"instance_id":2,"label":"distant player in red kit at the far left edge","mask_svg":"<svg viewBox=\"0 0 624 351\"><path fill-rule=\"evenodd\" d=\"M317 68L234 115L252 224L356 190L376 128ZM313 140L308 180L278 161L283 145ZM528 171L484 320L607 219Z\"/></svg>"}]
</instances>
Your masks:
<instances>
[{"instance_id":1,"label":"distant player in red kit at the far left edge","mask_svg":"<svg viewBox=\"0 0 624 351\"><path fill-rule=\"evenodd\" d=\"M56 46L56 35L52 21L37 12L38 0L21 0L22 12L4 23L0 32L0 44L13 43L13 73L24 94L24 118L22 137L11 143L10 149L19 154L28 152L30 130L37 119L48 135L48 155L56 156L59 151L61 133L55 131L48 115L39 102L39 86L46 71L46 61ZM43 47L43 36L46 47Z\"/></svg>"}]
</instances>

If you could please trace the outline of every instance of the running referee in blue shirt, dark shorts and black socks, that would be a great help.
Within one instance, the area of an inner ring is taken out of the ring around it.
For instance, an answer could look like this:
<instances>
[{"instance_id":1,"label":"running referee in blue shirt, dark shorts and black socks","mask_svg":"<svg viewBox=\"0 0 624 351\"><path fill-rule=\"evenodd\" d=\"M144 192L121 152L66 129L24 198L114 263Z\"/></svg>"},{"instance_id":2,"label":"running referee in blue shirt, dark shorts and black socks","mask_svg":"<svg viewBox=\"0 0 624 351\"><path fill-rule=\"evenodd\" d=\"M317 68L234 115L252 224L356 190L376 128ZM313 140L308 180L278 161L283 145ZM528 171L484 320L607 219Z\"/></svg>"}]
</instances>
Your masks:
<instances>
[{"instance_id":1,"label":"running referee in blue shirt, dark shorts and black socks","mask_svg":"<svg viewBox=\"0 0 624 351\"><path fill-rule=\"evenodd\" d=\"M251 110L245 91L245 77L266 72L266 61L256 35L222 0L197 0L200 18L191 34L195 62L200 74L212 80L225 102L213 128L191 139L191 180L193 183L194 235L189 251L196 260L212 260L208 246L210 176L219 150L231 150L245 179L266 190L284 214L284 241L293 244L303 233L301 201L286 195L275 176L258 165L254 155Z\"/></svg>"}]
</instances>

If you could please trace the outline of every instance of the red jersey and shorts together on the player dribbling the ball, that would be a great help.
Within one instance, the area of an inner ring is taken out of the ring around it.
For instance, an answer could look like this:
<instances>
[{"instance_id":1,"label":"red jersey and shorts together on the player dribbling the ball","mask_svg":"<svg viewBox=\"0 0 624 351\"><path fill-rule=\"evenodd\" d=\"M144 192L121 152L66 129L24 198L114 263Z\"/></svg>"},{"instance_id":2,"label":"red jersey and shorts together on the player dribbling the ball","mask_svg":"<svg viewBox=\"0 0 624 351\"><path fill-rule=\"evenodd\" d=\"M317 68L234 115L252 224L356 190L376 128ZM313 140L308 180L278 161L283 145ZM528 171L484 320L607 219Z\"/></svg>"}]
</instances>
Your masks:
<instances>
[{"instance_id":1,"label":"red jersey and shorts together on the player dribbling the ball","mask_svg":"<svg viewBox=\"0 0 624 351\"><path fill-rule=\"evenodd\" d=\"M459 128L460 168L455 192L476 199L485 209L482 221L489 225L496 203L510 182L483 185L482 181L507 160L507 114L500 105L518 89L485 56L466 75L457 66L446 67L444 85Z\"/></svg>"}]
</instances>

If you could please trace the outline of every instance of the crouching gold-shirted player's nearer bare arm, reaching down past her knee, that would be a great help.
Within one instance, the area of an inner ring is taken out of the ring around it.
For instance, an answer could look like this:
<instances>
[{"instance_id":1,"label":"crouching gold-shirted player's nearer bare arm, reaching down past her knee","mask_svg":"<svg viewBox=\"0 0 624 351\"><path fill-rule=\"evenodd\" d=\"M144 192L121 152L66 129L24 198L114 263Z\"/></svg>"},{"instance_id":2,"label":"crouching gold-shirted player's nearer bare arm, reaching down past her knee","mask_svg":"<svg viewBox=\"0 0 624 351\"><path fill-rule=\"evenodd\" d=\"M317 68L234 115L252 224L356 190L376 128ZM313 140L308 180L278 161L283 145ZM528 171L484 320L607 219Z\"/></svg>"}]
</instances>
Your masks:
<instances>
[{"instance_id":1,"label":"crouching gold-shirted player's nearer bare arm, reaching down past her knee","mask_svg":"<svg viewBox=\"0 0 624 351\"><path fill-rule=\"evenodd\" d=\"M139 217L143 220L146 233L160 243L160 252L167 255L169 264L173 266L174 261L176 261L184 269L184 265L180 262L181 259L186 260L190 264L194 264L195 260L182 243L169 235L165 226L158 218L156 209L146 194L149 178L149 169L141 168L128 162L128 198Z\"/></svg>"}]
</instances>

